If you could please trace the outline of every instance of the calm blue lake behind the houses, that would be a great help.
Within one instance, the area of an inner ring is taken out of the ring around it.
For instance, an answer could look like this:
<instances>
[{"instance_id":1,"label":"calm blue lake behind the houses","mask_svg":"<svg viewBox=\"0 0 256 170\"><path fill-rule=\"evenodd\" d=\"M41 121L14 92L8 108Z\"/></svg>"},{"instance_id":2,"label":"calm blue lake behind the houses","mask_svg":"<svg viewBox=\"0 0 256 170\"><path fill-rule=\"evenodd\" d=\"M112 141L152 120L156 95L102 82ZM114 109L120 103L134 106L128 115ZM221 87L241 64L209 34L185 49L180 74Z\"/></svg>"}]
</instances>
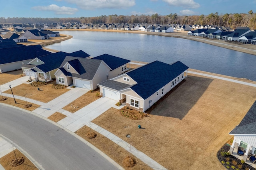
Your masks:
<instances>
[{"instance_id":1,"label":"calm blue lake behind the houses","mask_svg":"<svg viewBox=\"0 0 256 170\"><path fill-rule=\"evenodd\" d=\"M180 60L192 69L256 81L256 55L206 43L122 32L60 31L60 34L73 38L46 47L68 53L83 50L94 57L107 53L146 62Z\"/></svg>"}]
</instances>

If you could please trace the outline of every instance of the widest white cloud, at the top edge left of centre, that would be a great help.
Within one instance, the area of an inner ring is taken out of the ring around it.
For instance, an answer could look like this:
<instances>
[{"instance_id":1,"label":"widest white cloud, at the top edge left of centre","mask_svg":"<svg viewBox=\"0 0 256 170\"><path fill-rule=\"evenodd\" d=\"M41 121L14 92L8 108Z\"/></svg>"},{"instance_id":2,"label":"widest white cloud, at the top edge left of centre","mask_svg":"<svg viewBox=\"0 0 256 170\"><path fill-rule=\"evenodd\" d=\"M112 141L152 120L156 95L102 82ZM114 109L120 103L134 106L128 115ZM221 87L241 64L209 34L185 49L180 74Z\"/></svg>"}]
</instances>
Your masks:
<instances>
[{"instance_id":1,"label":"widest white cloud, at the top edge left of centre","mask_svg":"<svg viewBox=\"0 0 256 170\"><path fill-rule=\"evenodd\" d=\"M65 0L66 2L76 4L85 10L94 10L97 8L120 9L135 5L135 0Z\"/></svg>"}]
</instances>

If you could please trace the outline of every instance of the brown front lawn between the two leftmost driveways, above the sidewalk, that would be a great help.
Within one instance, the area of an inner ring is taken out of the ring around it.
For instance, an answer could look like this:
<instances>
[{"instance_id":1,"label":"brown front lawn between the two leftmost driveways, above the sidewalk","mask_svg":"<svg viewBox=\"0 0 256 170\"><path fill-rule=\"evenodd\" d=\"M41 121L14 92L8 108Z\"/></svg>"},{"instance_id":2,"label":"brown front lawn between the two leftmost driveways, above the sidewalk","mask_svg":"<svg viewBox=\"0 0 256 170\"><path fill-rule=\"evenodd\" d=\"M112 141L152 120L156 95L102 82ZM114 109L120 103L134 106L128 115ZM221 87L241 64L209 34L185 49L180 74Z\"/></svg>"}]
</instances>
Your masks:
<instances>
[{"instance_id":1,"label":"brown front lawn between the two leftmost driveways, above the sidewalk","mask_svg":"<svg viewBox=\"0 0 256 170\"><path fill-rule=\"evenodd\" d=\"M56 97L69 91L69 89L53 89L52 84L47 84L39 87L31 86L29 84L21 84L12 88L13 94L18 96L26 95L27 98L34 99L47 103ZM4 93L12 94L11 90L4 91Z\"/></svg>"}]
</instances>

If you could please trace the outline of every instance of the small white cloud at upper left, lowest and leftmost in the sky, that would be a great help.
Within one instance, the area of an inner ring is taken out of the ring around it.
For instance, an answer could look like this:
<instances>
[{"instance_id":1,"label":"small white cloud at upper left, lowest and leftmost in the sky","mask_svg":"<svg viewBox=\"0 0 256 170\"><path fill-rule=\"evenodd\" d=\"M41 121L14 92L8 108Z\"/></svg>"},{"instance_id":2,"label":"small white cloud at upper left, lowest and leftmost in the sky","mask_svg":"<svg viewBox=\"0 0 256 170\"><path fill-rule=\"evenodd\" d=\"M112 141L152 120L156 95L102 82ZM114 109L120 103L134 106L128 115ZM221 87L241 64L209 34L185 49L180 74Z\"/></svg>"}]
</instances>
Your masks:
<instances>
[{"instance_id":1,"label":"small white cloud at upper left, lowest and leftmost in the sky","mask_svg":"<svg viewBox=\"0 0 256 170\"><path fill-rule=\"evenodd\" d=\"M38 10L38 11L53 11L55 14L66 14L66 15L72 15L78 11L77 8L70 8L66 6L60 7L55 4L51 4L49 6L34 6L32 7L32 9Z\"/></svg>"}]
</instances>

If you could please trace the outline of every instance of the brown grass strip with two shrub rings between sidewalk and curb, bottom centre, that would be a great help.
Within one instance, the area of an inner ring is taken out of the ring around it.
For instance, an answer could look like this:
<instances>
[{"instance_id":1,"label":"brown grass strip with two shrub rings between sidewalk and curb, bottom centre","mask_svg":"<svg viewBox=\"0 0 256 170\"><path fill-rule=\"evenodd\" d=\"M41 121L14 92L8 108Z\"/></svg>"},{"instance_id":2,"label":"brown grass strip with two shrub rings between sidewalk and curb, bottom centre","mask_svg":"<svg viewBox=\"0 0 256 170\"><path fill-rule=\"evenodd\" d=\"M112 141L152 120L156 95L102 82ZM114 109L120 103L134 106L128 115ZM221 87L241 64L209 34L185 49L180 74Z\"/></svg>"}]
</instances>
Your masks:
<instances>
[{"instance_id":1,"label":"brown grass strip with two shrub rings between sidewalk and curb, bottom centre","mask_svg":"<svg viewBox=\"0 0 256 170\"><path fill-rule=\"evenodd\" d=\"M130 152L119 146L118 144L112 142L110 139L106 138L102 134L92 130L92 132L96 133L97 136L95 138L87 138L86 135L90 132L90 128L84 126L76 131L76 134L96 146L110 158L112 158L115 162L117 162L123 168L123 160L129 156ZM131 154L132 157L136 159L136 165L132 168L125 168L126 170L152 170L152 168L148 167L144 162L140 159L136 158Z\"/></svg>"}]
</instances>

